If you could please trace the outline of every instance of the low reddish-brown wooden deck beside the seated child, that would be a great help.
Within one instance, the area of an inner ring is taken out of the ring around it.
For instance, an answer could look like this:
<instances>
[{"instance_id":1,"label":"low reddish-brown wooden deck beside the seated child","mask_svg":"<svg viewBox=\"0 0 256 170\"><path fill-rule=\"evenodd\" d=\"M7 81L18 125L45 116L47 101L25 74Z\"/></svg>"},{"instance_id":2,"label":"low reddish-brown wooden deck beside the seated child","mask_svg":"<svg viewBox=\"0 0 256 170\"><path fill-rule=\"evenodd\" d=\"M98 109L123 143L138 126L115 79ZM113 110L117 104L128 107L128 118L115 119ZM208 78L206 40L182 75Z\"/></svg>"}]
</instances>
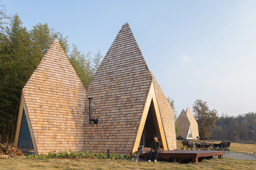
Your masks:
<instances>
[{"instance_id":1,"label":"low reddish-brown wooden deck beside the seated child","mask_svg":"<svg viewBox=\"0 0 256 170\"><path fill-rule=\"evenodd\" d=\"M144 160L148 160L149 151L143 154ZM198 162L198 158L207 156L223 157L224 151L214 150L160 150L158 157L172 158L172 162L176 162L176 158L190 158L192 163Z\"/></svg>"}]
</instances>

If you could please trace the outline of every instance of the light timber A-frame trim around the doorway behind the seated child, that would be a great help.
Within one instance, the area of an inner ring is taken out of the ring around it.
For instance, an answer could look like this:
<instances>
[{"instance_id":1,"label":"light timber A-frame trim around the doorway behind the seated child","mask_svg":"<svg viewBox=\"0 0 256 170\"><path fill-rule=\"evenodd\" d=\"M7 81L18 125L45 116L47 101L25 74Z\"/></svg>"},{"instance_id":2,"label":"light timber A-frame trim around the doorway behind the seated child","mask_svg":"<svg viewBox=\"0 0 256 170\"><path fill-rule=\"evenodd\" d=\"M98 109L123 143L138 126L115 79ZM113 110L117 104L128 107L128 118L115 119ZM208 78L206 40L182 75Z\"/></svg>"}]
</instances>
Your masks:
<instances>
[{"instance_id":1,"label":"light timber A-frame trim around the doorway behind the seated child","mask_svg":"<svg viewBox=\"0 0 256 170\"><path fill-rule=\"evenodd\" d=\"M153 82L154 82L154 80L152 79L152 82L151 82L151 85L149 88L149 92L147 95L147 99L146 99L146 102L144 105L144 109L143 109L143 112L141 115L141 121L139 124L139 128L138 128L136 138L134 141L134 145L133 145L133 148L131 151L131 156L135 155L135 153L137 151L137 146L139 146L139 144L140 144L142 131L143 131L144 125L146 123L146 118L147 118L147 114L148 114L150 107L153 108L156 113L156 117L154 117L152 115L152 118L153 118L153 120L156 119L156 121L154 120L154 125L155 125L155 129L156 129L156 133L159 133L159 138L161 138L161 145L163 146L164 150L168 150L165 131L164 131L161 115L160 115L159 104L157 101L155 86L154 86Z\"/></svg>"}]
</instances>

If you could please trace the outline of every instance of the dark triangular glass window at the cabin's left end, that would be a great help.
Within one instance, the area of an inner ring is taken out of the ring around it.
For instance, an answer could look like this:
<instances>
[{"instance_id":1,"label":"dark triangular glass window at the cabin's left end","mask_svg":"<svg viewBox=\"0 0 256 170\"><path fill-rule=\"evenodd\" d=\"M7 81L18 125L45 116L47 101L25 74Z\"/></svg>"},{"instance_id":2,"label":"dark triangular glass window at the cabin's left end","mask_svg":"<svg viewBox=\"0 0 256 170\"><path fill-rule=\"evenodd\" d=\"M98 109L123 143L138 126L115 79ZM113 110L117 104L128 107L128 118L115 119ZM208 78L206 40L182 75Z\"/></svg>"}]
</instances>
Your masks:
<instances>
[{"instance_id":1,"label":"dark triangular glass window at the cabin's left end","mask_svg":"<svg viewBox=\"0 0 256 170\"><path fill-rule=\"evenodd\" d=\"M34 148L24 109L23 109L22 121L20 125L18 148Z\"/></svg>"}]
</instances>

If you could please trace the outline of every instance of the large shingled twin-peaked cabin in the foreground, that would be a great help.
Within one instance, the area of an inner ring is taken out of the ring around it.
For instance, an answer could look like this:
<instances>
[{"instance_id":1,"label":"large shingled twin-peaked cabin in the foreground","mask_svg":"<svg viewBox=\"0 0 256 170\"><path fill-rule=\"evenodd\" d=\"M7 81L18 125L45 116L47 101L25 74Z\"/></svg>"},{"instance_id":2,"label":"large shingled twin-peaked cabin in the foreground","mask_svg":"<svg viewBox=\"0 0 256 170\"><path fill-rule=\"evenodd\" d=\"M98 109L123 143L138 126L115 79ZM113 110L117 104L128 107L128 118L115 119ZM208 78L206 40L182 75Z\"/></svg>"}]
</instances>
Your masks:
<instances>
[{"instance_id":1,"label":"large shingled twin-peaked cabin in the foreground","mask_svg":"<svg viewBox=\"0 0 256 170\"><path fill-rule=\"evenodd\" d=\"M89 121L89 99L91 119ZM97 107L96 107L97 106ZM90 150L134 155L176 146L174 112L125 23L85 89L55 40L22 90L15 144L37 154Z\"/></svg>"}]
</instances>

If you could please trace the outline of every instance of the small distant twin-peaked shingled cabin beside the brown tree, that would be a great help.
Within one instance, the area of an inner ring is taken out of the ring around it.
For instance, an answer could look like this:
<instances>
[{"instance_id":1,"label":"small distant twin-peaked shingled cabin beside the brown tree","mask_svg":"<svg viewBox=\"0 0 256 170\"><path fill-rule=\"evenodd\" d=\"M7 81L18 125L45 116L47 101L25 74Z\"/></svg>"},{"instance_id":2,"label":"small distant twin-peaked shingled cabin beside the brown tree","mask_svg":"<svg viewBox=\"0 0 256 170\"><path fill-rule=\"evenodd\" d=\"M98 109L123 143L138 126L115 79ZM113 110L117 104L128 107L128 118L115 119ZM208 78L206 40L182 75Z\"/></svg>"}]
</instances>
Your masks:
<instances>
[{"instance_id":1,"label":"small distant twin-peaked shingled cabin beside the brown tree","mask_svg":"<svg viewBox=\"0 0 256 170\"><path fill-rule=\"evenodd\" d=\"M182 138L192 140L197 139L197 136L199 136L197 121L189 108L187 108L186 112L184 109L182 110L181 114L176 120L176 123L178 125L178 129L180 130L179 136Z\"/></svg>"}]
</instances>

